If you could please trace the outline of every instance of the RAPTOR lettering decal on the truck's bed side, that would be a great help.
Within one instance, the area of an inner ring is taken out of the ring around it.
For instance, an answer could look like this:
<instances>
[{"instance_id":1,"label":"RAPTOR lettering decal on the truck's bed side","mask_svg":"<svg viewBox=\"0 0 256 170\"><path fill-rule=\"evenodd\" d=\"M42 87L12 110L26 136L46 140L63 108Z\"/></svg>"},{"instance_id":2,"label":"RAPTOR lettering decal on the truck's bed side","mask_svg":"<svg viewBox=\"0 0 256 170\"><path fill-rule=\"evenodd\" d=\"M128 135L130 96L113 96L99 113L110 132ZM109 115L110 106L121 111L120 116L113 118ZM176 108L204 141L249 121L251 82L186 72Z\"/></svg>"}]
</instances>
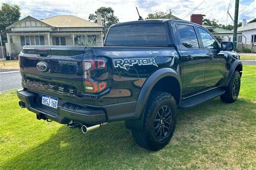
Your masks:
<instances>
[{"instance_id":1,"label":"RAPTOR lettering decal on the truck's bed side","mask_svg":"<svg viewBox=\"0 0 256 170\"><path fill-rule=\"evenodd\" d=\"M113 60L113 62L115 68L120 67L123 69L127 69L125 66L133 66L136 64L138 64L139 66L154 65L158 67L154 58L117 59Z\"/></svg>"}]
</instances>

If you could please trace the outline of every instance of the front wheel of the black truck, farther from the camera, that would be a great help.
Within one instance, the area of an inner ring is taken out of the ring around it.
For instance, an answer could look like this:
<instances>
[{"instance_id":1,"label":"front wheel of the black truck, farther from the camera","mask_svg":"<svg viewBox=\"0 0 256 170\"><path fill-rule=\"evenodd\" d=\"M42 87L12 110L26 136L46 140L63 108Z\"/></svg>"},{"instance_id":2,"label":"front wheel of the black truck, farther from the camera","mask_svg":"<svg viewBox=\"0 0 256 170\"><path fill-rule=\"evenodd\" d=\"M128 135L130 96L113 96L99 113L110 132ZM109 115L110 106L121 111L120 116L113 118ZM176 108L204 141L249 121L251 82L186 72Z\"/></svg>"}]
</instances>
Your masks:
<instances>
[{"instance_id":1,"label":"front wheel of the black truck, farther from the camera","mask_svg":"<svg viewBox=\"0 0 256 170\"><path fill-rule=\"evenodd\" d=\"M240 73L237 70L235 70L231 77L230 84L228 84L228 87L226 88L225 94L220 96L221 101L226 103L235 102L239 95L240 84Z\"/></svg>"}]
</instances>

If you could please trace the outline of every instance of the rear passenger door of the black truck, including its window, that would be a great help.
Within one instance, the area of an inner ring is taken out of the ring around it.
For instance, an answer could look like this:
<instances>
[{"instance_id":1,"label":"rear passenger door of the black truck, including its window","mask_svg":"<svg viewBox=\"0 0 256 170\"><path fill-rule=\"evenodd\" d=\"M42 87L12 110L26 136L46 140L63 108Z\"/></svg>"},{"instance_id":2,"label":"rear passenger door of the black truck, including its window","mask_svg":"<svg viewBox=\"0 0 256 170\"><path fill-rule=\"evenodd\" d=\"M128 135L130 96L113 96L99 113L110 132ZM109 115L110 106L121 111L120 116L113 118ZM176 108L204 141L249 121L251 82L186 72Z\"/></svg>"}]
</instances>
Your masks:
<instances>
[{"instance_id":1,"label":"rear passenger door of the black truck, including its window","mask_svg":"<svg viewBox=\"0 0 256 170\"><path fill-rule=\"evenodd\" d=\"M176 24L176 36L181 53L183 73L183 96L189 96L204 88L206 56L199 48L193 25Z\"/></svg>"}]
</instances>

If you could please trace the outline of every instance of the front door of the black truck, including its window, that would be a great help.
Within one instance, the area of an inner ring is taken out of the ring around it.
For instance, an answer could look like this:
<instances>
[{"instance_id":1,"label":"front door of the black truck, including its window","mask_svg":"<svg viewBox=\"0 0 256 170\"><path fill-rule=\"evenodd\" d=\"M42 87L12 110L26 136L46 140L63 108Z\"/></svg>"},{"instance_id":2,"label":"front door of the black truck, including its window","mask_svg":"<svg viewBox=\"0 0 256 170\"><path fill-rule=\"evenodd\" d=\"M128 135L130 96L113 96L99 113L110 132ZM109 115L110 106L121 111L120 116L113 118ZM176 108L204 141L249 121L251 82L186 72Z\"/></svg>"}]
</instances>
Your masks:
<instances>
[{"instance_id":1,"label":"front door of the black truck, including its window","mask_svg":"<svg viewBox=\"0 0 256 170\"><path fill-rule=\"evenodd\" d=\"M224 80L226 57L221 53L219 43L205 29L198 27L207 57L204 88L218 86Z\"/></svg>"}]
</instances>

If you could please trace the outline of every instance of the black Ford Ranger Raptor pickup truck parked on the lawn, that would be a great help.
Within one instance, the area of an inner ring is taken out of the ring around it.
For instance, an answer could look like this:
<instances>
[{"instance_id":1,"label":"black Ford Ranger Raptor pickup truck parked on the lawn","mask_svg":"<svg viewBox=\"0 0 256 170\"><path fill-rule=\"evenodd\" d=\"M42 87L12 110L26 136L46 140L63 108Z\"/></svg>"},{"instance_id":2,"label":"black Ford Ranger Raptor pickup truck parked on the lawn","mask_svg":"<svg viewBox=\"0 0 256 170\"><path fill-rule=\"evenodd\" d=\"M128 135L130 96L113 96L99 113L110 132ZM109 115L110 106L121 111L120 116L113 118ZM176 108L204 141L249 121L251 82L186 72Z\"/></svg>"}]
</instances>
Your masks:
<instances>
[{"instance_id":1,"label":"black Ford Ranger Raptor pickup truck parked on the lawn","mask_svg":"<svg viewBox=\"0 0 256 170\"><path fill-rule=\"evenodd\" d=\"M177 109L237 100L242 63L232 42L183 20L112 25L103 47L24 46L19 105L84 133L125 121L136 143L167 145Z\"/></svg>"}]
</instances>

